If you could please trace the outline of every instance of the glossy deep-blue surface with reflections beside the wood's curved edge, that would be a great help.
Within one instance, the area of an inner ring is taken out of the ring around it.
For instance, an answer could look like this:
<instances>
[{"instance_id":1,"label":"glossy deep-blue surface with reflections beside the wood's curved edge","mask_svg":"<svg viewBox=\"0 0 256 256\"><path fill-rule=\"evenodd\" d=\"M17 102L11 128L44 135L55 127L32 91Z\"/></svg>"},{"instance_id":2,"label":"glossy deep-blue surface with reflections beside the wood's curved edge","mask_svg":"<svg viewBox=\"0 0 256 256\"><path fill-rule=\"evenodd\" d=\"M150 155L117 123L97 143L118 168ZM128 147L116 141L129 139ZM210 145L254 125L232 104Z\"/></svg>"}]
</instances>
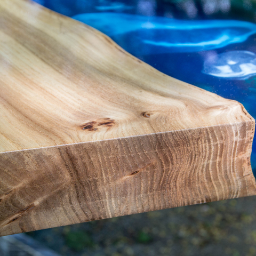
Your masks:
<instances>
[{"instance_id":1,"label":"glossy deep-blue surface with reflections beside the wood's curved edge","mask_svg":"<svg viewBox=\"0 0 256 256\"><path fill-rule=\"evenodd\" d=\"M229 0L35 0L110 36L149 65L243 103L256 118L256 23ZM199 3L199 4L198 4ZM256 174L256 139L251 163Z\"/></svg>"}]
</instances>

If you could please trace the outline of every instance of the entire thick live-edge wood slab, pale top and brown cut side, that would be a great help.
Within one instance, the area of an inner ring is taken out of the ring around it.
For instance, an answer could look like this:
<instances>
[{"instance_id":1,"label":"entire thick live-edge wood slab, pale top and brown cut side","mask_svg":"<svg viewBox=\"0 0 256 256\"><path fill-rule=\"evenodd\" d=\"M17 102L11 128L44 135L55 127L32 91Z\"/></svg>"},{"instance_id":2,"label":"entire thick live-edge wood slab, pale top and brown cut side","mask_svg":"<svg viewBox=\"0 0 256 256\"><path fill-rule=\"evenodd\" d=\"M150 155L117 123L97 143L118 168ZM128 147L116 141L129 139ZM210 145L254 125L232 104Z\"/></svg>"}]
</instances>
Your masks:
<instances>
[{"instance_id":1,"label":"entire thick live-edge wood slab, pale top and brown cut side","mask_svg":"<svg viewBox=\"0 0 256 256\"><path fill-rule=\"evenodd\" d=\"M36 3L0 1L0 86L2 236L256 194L241 103Z\"/></svg>"}]
</instances>

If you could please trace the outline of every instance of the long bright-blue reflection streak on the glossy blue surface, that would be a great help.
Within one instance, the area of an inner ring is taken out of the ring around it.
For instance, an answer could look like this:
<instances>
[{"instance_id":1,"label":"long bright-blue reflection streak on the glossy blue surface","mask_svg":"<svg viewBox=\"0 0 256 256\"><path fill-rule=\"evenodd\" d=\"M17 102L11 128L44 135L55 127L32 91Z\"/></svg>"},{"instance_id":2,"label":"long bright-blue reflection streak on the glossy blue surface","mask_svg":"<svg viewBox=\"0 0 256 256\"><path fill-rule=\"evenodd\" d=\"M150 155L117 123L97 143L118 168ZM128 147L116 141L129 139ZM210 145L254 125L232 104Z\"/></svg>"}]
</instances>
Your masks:
<instances>
[{"instance_id":1,"label":"long bright-blue reflection streak on the glossy blue surface","mask_svg":"<svg viewBox=\"0 0 256 256\"><path fill-rule=\"evenodd\" d=\"M135 56L199 52L242 43L256 25L235 20L177 20L125 13L85 13L72 18L97 28Z\"/></svg>"}]
</instances>

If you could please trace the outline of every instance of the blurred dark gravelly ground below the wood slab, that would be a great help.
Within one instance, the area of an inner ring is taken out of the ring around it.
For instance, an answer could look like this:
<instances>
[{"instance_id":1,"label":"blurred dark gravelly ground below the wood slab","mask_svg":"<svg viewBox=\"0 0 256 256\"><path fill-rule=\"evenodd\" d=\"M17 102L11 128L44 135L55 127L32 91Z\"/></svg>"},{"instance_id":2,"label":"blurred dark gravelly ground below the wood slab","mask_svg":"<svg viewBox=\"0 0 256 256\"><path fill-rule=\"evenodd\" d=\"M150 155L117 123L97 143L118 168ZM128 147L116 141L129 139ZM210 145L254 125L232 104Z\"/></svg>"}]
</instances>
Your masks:
<instances>
[{"instance_id":1,"label":"blurred dark gravelly ground below the wood slab","mask_svg":"<svg viewBox=\"0 0 256 256\"><path fill-rule=\"evenodd\" d=\"M27 233L61 255L255 256L256 196Z\"/></svg>"}]
</instances>

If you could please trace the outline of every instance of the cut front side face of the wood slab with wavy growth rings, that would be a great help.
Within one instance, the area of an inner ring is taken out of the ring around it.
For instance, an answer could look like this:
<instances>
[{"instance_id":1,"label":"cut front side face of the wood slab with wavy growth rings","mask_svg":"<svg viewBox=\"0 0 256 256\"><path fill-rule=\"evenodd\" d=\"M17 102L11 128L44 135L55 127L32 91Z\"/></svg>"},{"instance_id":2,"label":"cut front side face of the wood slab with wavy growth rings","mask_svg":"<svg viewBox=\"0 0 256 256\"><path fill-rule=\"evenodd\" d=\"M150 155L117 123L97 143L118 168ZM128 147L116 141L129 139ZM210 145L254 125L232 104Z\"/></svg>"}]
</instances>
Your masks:
<instances>
[{"instance_id":1,"label":"cut front side face of the wood slab with wavy growth rings","mask_svg":"<svg viewBox=\"0 0 256 256\"><path fill-rule=\"evenodd\" d=\"M253 126L1 154L0 235L254 195Z\"/></svg>"}]
</instances>

